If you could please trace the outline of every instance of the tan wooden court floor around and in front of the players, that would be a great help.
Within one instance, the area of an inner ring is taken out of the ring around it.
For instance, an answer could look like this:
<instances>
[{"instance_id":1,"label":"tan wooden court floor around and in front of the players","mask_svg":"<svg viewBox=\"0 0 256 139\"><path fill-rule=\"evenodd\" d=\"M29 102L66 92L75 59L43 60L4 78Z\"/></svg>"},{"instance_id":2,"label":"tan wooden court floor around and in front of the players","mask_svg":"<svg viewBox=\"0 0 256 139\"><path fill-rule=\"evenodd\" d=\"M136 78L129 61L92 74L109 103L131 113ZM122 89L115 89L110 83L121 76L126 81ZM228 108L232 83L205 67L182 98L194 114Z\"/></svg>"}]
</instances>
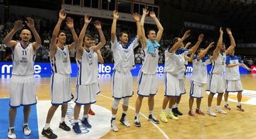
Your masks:
<instances>
[{"instance_id":1,"label":"tan wooden court floor around and in front of the players","mask_svg":"<svg viewBox=\"0 0 256 139\"><path fill-rule=\"evenodd\" d=\"M159 119L161 112L161 104L164 94L163 78L158 78L158 93L155 96L154 115ZM244 90L256 90L256 76L242 75L242 83ZM72 86L74 93L75 78L72 78ZM185 80L186 90L189 91L189 77ZM100 79L100 87L102 92L98 96L97 105L106 107L111 110L112 95L111 95L111 78ZM133 77L133 90L137 92L137 77ZM9 79L2 78L0 80L0 97L9 97ZM36 94L38 100L50 100L50 78L36 79ZM182 96L179 109L184 113L178 117L179 120L168 120L168 123L152 124L147 120L148 107L147 98L144 98L143 106L141 107L140 122L141 127L133 125L133 117L135 114L135 101L137 94L130 99L130 108L128 110L128 120L131 127L124 127L118 124L119 131L109 131L103 138L256 138L256 107L254 105L243 104L245 112L236 110L237 103L230 102L231 111L227 115L217 114L217 117L199 116L189 117L189 94ZM223 106L223 102L222 102ZM194 104L195 107L195 104ZM213 109L216 107L216 98L213 100ZM117 119L121 115L121 105ZM202 99L202 110L207 109L207 94ZM96 111L97 113L97 111ZM110 124L110 122L109 122ZM110 126L110 125L109 125Z\"/></svg>"}]
</instances>

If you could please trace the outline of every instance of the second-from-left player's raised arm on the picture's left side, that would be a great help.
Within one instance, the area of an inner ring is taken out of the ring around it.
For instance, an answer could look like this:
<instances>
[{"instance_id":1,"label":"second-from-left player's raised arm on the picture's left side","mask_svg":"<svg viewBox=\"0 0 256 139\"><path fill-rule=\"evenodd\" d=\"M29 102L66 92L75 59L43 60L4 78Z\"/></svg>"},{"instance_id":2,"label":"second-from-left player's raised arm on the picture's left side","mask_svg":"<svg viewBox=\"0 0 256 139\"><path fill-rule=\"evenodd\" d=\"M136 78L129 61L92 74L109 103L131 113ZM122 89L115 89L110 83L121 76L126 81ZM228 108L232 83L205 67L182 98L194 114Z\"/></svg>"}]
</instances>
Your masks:
<instances>
[{"instance_id":1,"label":"second-from-left player's raised arm on the picture's left side","mask_svg":"<svg viewBox=\"0 0 256 139\"><path fill-rule=\"evenodd\" d=\"M59 12L59 19L57 21L57 24L55 25L54 32L50 39L50 59L52 59L57 52L57 46L56 46L57 34L60 32L61 23L65 18L66 18L65 11L64 9L61 9L61 11Z\"/></svg>"}]
</instances>

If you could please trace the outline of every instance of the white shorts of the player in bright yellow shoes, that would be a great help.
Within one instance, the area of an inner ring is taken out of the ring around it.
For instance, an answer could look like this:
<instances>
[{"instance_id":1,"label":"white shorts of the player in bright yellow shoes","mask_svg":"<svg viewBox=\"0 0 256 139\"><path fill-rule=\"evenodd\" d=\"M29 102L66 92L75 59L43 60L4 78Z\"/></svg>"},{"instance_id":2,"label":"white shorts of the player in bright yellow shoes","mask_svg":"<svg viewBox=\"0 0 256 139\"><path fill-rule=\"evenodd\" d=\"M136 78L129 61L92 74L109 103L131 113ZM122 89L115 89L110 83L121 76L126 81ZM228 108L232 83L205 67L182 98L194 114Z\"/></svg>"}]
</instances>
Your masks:
<instances>
[{"instance_id":1,"label":"white shorts of the player in bright yellow shoes","mask_svg":"<svg viewBox=\"0 0 256 139\"><path fill-rule=\"evenodd\" d=\"M178 76L164 72L164 96L179 97L181 92Z\"/></svg>"}]
</instances>

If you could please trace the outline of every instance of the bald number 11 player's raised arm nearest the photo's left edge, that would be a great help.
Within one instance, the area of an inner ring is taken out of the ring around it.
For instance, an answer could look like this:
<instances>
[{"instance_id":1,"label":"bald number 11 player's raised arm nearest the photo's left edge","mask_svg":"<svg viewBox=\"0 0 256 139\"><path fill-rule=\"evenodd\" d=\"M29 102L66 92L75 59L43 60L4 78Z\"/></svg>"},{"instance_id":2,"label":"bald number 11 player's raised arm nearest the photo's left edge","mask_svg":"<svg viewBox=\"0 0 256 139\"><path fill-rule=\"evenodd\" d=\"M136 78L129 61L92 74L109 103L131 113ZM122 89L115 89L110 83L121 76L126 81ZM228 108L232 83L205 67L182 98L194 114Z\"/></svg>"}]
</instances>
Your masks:
<instances>
[{"instance_id":1,"label":"bald number 11 player's raised arm nearest the photo's left edge","mask_svg":"<svg viewBox=\"0 0 256 139\"><path fill-rule=\"evenodd\" d=\"M6 46L11 47L12 49L17 45L17 42L15 40L12 40L12 37L15 35L15 33L19 30L22 29L22 21L21 20L17 20L14 23L14 27L11 30L11 32L9 32L7 34L7 36L5 36L3 43L5 43Z\"/></svg>"}]
</instances>

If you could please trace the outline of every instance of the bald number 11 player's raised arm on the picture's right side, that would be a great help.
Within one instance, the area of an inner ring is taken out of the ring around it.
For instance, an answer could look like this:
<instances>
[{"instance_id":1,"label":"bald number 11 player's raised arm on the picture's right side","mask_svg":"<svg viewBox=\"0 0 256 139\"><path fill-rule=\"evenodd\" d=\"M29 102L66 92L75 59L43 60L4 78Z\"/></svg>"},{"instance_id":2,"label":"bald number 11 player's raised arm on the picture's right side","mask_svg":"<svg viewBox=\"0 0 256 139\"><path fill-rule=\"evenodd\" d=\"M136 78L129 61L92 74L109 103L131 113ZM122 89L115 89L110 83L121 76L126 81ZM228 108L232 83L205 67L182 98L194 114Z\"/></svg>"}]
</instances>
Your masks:
<instances>
[{"instance_id":1,"label":"bald number 11 player's raised arm on the picture's right side","mask_svg":"<svg viewBox=\"0 0 256 139\"><path fill-rule=\"evenodd\" d=\"M34 19L31 19L31 17L27 17L26 19L27 19L27 21L25 21L26 25L29 27L31 32L33 32L33 36L36 39L36 42L32 43L33 50L34 50L34 52L36 52L36 49L39 49L41 46L41 38L40 38L39 34L36 32Z\"/></svg>"}]
</instances>

